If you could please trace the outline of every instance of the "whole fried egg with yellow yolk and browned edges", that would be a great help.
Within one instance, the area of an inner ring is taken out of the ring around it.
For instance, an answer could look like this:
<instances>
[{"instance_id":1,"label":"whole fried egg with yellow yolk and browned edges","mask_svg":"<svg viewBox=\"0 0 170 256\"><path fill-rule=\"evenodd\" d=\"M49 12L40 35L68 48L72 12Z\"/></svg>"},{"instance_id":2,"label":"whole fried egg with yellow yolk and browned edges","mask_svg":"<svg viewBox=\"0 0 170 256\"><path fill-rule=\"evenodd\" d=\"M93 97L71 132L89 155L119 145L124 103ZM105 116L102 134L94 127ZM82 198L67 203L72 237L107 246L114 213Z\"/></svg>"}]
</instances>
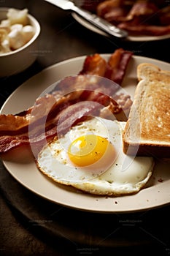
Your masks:
<instances>
[{"instance_id":1,"label":"whole fried egg with yellow yolk and browned edges","mask_svg":"<svg viewBox=\"0 0 170 256\"><path fill-rule=\"evenodd\" d=\"M94 195L139 192L154 167L152 157L123 153L124 121L90 118L53 138L39 152L36 165L54 181Z\"/></svg>"}]
</instances>

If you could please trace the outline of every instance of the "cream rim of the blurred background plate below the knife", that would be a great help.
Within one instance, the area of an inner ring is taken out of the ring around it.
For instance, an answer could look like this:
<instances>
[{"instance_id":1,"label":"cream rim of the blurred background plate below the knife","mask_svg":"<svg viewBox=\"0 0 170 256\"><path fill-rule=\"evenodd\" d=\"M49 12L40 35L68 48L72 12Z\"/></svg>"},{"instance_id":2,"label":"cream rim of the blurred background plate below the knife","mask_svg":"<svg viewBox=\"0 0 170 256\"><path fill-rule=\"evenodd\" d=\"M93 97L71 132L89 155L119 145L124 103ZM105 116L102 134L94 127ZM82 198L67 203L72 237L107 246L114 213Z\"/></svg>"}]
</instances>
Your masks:
<instances>
[{"instance_id":1,"label":"cream rim of the blurred background plate below the knife","mask_svg":"<svg viewBox=\"0 0 170 256\"><path fill-rule=\"evenodd\" d=\"M78 23L80 23L82 26L84 26L86 29L90 29L90 31L96 32L97 34L101 34L105 37L108 37L107 33L104 33L104 31L101 31L101 29L96 28L96 26L93 26L85 19L81 18L76 13L72 13L72 17L77 20ZM170 34L165 34L163 36L145 36L145 35L138 35L138 36L128 36L125 40L127 41L133 41L133 42L146 42L146 41L155 41L155 40L162 40L162 39L168 39L170 38Z\"/></svg>"}]
</instances>

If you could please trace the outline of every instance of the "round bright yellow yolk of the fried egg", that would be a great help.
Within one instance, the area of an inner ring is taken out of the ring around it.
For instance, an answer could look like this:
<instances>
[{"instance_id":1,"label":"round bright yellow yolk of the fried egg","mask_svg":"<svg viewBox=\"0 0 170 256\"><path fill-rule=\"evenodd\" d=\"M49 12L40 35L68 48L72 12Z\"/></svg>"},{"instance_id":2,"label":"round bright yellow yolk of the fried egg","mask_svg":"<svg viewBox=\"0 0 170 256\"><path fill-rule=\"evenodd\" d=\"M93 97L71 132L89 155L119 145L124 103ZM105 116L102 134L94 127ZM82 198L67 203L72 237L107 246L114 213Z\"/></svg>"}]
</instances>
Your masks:
<instances>
[{"instance_id":1,"label":"round bright yellow yolk of the fried egg","mask_svg":"<svg viewBox=\"0 0 170 256\"><path fill-rule=\"evenodd\" d=\"M85 167L98 162L113 146L106 138L96 135L83 135L74 140L68 150L69 159L74 165Z\"/></svg>"}]
</instances>

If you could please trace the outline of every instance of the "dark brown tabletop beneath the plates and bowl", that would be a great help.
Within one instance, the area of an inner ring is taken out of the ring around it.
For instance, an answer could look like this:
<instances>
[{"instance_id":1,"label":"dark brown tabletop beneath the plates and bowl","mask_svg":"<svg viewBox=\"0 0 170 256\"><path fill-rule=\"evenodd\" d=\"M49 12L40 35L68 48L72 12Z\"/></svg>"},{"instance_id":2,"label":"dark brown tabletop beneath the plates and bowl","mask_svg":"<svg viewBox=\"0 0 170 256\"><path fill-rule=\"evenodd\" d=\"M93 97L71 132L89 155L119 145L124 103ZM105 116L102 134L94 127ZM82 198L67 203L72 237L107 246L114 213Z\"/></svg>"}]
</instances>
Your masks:
<instances>
[{"instance_id":1,"label":"dark brown tabletop beneath the plates and bowl","mask_svg":"<svg viewBox=\"0 0 170 256\"><path fill-rule=\"evenodd\" d=\"M170 61L169 39L122 42L102 37L77 23L71 12L41 0L0 1L0 7L26 7L42 28L34 64L0 79L0 106L28 78L65 59L124 48L138 56ZM170 254L169 206L134 214L76 211L34 195L2 163L0 169L0 255Z\"/></svg>"}]
</instances>

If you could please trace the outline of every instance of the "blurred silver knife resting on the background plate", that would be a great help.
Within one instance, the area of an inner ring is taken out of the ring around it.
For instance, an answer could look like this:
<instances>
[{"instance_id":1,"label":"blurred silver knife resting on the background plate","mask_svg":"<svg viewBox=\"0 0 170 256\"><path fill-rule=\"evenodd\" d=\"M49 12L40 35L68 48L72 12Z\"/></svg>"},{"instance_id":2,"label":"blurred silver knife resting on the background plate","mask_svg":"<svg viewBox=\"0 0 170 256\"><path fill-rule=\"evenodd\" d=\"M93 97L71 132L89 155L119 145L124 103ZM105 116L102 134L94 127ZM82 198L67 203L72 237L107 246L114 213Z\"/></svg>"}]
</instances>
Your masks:
<instances>
[{"instance_id":1,"label":"blurred silver knife resting on the background plate","mask_svg":"<svg viewBox=\"0 0 170 256\"><path fill-rule=\"evenodd\" d=\"M84 18L85 20L88 20L88 22L93 24L93 26L98 27L98 29L101 29L102 31L104 31L105 33L113 37L119 37L119 38L128 37L127 31L117 28L116 26L107 22L107 20L104 20L103 18L99 18L97 15L94 15L86 10L82 10L82 8L77 7L72 1L69 1L69 0L45 0L45 1L48 1L50 4L54 4L55 6L63 10L72 10L73 12L76 12L82 18Z\"/></svg>"}]
</instances>

